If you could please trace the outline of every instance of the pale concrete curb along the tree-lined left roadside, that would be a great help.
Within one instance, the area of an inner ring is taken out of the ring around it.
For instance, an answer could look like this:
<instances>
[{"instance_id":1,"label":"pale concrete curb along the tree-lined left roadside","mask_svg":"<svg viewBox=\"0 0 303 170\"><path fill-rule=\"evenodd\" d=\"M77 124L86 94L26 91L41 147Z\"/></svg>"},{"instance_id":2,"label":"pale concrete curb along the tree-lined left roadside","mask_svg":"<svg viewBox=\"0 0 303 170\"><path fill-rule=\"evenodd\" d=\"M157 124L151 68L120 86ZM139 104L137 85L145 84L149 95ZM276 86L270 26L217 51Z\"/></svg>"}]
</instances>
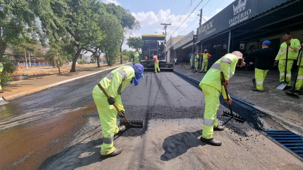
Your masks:
<instances>
[{"instance_id":1,"label":"pale concrete curb along the tree-lined left roadside","mask_svg":"<svg viewBox=\"0 0 303 170\"><path fill-rule=\"evenodd\" d=\"M70 82L70 81L73 81L73 80L81 79L83 77L87 77L87 76L91 76L91 75L94 75L94 74L98 74L98 73L101 73L103 71L111 70L111 69L114 69L114 68L117 68L117 67L120 67L120 66L123 66L123 65L127 65L127 64L122 64L122 65L115 66L115 67L112 67L112 68L108 68L108 69L105 69L105 70L100 70L100 71L97 71L97 72L94 72L94 73L90 73L90 74L86 74L86 75L83 75L83 76L79 76L79 77L75 77L75 78L59 81L57 83L49 84L49 85L46 85L46 86L38 87L38 88L35 88L35 89L32 89L32 90L28 90L26 92L22 92L22 93L14 94L14 95L11 95L11 96L7 96L7 97L5 97L5 99L6 100L13 100L13 99L16 99L18 97L22 97L22 96L25 96L25 95L28 95L28 94L31 94L31 93L35 93L35 92L38 92L38 91L41 91L41 90L44 90L44 89L48 89L50 87L54 87L54 86L57 86L57 85L60 85L60 84L63 84L63 83L67 83L67 82Z\"/></svg>"}]
</instances>

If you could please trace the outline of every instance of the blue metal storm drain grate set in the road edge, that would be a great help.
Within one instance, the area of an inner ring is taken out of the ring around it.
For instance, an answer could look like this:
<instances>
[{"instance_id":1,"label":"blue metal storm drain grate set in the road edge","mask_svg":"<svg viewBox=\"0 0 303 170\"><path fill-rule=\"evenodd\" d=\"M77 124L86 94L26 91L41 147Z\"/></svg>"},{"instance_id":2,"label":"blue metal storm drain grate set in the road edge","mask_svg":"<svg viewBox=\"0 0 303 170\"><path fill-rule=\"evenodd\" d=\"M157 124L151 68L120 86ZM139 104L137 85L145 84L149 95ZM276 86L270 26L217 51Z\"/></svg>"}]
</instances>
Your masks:
<instances>
[{"instance_id":1,"label":"blue metal storm drain grate set in the road edge","mask_svg":"<svg viewBox=\"0 0 303 170\"><path fill-rule=\"evenodd\" d=\"M290 131L264 130L266 134L278 143L303 158L303 138Z\"/></svg>"}]
</instances>

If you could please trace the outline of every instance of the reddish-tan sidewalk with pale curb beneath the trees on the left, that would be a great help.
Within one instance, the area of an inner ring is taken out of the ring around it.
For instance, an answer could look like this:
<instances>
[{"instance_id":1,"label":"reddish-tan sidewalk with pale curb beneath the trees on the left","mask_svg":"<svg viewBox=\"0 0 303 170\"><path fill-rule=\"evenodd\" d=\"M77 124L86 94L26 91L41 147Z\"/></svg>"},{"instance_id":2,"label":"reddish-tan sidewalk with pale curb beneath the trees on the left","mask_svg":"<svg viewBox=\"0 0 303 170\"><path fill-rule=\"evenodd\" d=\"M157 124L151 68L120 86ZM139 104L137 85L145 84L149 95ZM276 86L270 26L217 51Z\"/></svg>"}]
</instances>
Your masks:
<instances>
[{"instance_id":1,"label":"reddish-tan sidewalk with pale curb beneath the trees on the left","mask_svg":"<svg viewBox=\"0 0 303 170\"><path fill-rule=\"evenodd\" d=\"M128 63L129 64L129 63ZM92 74L97 74L99 72L119 67L125 64L115 64L114 66L102 66L89 67L89 68L77 68L76 73L61 73L51 76L43 77L33 77L28 80L18 80L8 82L6 85L2 86L4 93L1 93L0 96L3 96L6 100L12 100L21 96L28 95L40 90L47 89L49 87L57 86L62 83L66 83L72 80L76 80L81 77L85 77Z\"/></svg>"}]
</instances>

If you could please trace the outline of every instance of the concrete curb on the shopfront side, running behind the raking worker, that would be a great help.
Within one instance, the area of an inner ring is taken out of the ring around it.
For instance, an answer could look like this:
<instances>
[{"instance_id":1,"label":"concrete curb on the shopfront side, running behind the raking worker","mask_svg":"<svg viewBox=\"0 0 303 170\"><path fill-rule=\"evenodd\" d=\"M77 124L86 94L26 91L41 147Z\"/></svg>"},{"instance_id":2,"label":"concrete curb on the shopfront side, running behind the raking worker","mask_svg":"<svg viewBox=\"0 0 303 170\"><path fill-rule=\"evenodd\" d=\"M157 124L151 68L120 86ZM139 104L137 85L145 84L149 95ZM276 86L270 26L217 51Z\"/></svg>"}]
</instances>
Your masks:
<instances>
[{"instance_id":1,"label":"concrete curb on the shopfront side, running behind the raking worker","mask_svg":"<svg viewBox=\"0 0 303 170\"><path fill-rule=\"evenodd\" d=\"M174 73L177 73L177 74L179 74L179 75L181 75L181 76L183 76L183 77L185 77L185 78L187 78L187 79L189 79L189 80L191 80L191 81L193 81L193 82L195 82L195 83L200 84L200 81L197 80L197 79L194 79L194 78L192 78L192 77L189 77L189 76L187 76L187 75L185 75L185 74L182 74L182 73L180 73L180 72L178 72L178 71L175 71L175 70L174 70ZM231 96L231 98L232 98L233 100L235 100L236 102L241 103L241 104L244 104L244 105L246 106L245 108L250 109L250 110L251 110L251 109L258 110L260 113L263 113L263 114L265 114L265 115L270 116L271 119L275 120L277 123L279 123L279 124L280 124L281 126L283 126L285 129L291 130L291 131L293 131L293 132L295 132L295 133L299 133L299 134L301 134L301 132L303 132L303 128L302 128L302 126L301 126L300 124L297 124L297 123L295 123L295 122L292 122L292 121L290 121L290 120L288 120L288 119L285 119L285 118L283 118L283 117L281 117L281 116L278 116L278 115L276 115L275 113L272 113L271 111L268 111L268 110L263 109L263 108L261 108L261 107L255 106L254 104L249 103L249 102L246 101L246 100L240 99L240 98L238 98L238 97L236 97L236 96L233 96L233 95L230 95L230 96ZM285 125L286 125L286 126L285 126ZM301 131L301 132L299 132L299 131Z\"/></svg>"}]
</instances>

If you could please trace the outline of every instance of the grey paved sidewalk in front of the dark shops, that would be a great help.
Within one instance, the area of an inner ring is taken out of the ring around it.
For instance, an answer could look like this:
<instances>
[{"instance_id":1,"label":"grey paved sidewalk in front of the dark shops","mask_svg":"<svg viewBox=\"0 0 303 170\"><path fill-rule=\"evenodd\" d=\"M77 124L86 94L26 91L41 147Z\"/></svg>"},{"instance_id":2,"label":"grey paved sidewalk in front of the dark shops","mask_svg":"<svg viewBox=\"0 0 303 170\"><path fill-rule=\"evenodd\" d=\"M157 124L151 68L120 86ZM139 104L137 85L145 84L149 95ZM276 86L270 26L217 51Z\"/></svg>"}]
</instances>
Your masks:
<instances>
[{"instance_id":1,"label":"grey paved sidewalk in front of the dark shops","mask_svg":"<svg viewBox=\"0 0 303 170\"><path fill-rule=\"evenodd\" d=\"M193 74L190 71L191 69L189 68L175 65L174 72L183 74L185 77L193 79L197 83L200 83L206 74L198 72ZM292 75L294 77L295 73ZM297 131L302 135L303 96L299 95L300 99L297 99L284 93L284 91L289 90L275 89L279 83L278 70L269 70L264 80L264 88L269 90L269 92L252 91L254 88L252 79L254 78L255 71L236 70L235 75L230 79L230 84L228 85L228 93L231 95L231 98L265 113L266 117L270 116L282 126L287 126L285 128ZM293 84L294 82L292 80L291 85Z\"/></svg>"}]
</instances>

